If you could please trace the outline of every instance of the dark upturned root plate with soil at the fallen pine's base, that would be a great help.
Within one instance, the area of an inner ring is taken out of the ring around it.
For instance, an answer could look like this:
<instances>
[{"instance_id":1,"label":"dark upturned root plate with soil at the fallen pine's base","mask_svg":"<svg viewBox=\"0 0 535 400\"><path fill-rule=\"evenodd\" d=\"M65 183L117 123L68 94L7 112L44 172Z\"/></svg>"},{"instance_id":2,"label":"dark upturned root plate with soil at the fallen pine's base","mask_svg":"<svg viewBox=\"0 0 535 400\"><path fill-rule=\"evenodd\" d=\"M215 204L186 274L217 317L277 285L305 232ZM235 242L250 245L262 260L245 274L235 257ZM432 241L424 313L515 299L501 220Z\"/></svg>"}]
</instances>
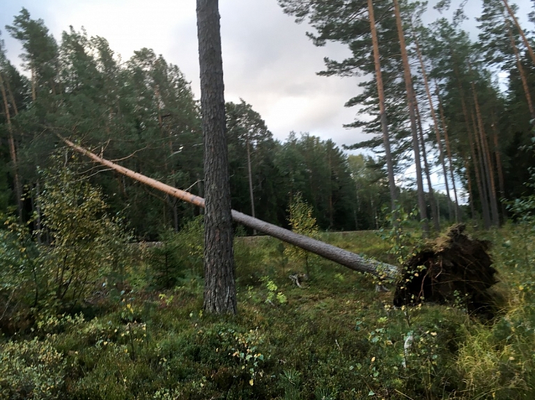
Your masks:
<instances>
[{"instance_id":1,"label":"dark upturned root plate with soil at the fallen pine's base","mask_svg":"<svg viewBox=\"0 0 535 400\"><path fill-rule=\"evenodd\" d=\"M487 253L490 243L467 237L465 225L428 243L403 267L396 285L394 305L421 302L457 304L468 312L491 317L495 294L490 287L498 282Z\"/></svg>"}]
</instances>

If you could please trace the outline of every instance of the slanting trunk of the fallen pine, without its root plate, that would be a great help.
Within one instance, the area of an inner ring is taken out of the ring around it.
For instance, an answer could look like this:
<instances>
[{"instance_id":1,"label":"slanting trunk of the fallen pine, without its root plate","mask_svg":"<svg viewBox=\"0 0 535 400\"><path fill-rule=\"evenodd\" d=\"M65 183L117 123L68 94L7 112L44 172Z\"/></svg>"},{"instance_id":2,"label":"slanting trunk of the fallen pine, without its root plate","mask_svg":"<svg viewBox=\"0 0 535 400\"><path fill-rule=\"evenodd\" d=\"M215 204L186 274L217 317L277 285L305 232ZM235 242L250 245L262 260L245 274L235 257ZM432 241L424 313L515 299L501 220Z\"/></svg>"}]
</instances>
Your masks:
<instances>
[{"instance_id":1,"label":"slanting trunk of the fallen pine, without its root plate","mask_svg":"<svg viewBox=\"0 0 535 400\"><path fill-rule=\"evenodd\" d=\"M111 161L102 159L102 157L98 157L98 155L84 149L83 147L75 145L75 143L72 143L68 139L65 139L59 135L58 137L66 145L72 147L77 152L84 154L86 157L89 157L93 161L102 164L103 166L107 166L110 169L116 170L118 173L135 179L137 182L146 184L154 189L167 193L180 200L189 202L192 205L196 205L198 207L203 208L205 207L205 200L199 196L193 195L192 193L188 193L187 191L182 191L180 189L173 188L172 186L163 184L162 182L158 182L156 179L146 177L145 175L136 173L133 170L129 170L128 168L119 166L116 163L112 163ZM371 273L373 275L386 274L389 277L394 277L398 271L398 267L394 265L377 262L375 260L365 259L364 257L360 257L359 255L351 253L348 250L343 250L341 248L337 248L336 246L323 243L323 241L318 241L302 234L297 234L290 230L286 230L282 227L278 227L277 225L261 221L258 218L253 218L235 210L232 210L232 217L234 221L242 223L247 227L256 229L258 230L258 232L263 232L272 237L280 239L281 241L286 241L286 243L293 244L294 246L300 247L304 250L308 250L311 253L325 257L333 262L336 262L343 266L347 266L353 271Z\"/></svg>"}]
</instances>

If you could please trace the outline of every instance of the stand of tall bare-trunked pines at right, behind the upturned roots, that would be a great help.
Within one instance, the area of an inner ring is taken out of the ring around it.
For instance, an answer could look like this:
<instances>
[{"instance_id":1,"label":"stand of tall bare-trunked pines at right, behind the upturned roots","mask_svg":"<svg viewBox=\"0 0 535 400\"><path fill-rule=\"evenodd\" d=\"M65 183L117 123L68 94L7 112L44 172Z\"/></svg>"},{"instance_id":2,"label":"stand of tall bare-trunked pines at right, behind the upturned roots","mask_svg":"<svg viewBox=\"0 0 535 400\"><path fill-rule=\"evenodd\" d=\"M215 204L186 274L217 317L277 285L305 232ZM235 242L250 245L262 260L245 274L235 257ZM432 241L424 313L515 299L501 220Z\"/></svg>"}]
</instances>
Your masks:
<instances>
[{"instance_id":1,"label":"stand of tall bare-trunked pines at right, behind the upturned roots","mask_svg":"<svg viewBox=\"0 0 535 400\"><path fill-rule=\"evenodd\" d=\"M522 183L534 161L525 146L532 143L535 57L518 8L506 0L481 1L474 42L461 29L467 2L455 3L451 20L424 24L426 2L279 0L296 22L313 26L308 35L314 45L339 42L350 49L342 61L325 58L320 75L369 77L346 103L359 107L347 126L374 136L351 148L371 149L385 163L392 207L395 176L407 164L415 166L424 230L428 217L440 227L435 202L426 202L436 195L430 177L435 163L454 200L449 213L463 218L460 198L467 193L470 214L464 218L482 218L490 227L507 218L503 200L529 192ZM435 4L441 13L450 7L451 1Z\"/></svg>"}]
</instances>

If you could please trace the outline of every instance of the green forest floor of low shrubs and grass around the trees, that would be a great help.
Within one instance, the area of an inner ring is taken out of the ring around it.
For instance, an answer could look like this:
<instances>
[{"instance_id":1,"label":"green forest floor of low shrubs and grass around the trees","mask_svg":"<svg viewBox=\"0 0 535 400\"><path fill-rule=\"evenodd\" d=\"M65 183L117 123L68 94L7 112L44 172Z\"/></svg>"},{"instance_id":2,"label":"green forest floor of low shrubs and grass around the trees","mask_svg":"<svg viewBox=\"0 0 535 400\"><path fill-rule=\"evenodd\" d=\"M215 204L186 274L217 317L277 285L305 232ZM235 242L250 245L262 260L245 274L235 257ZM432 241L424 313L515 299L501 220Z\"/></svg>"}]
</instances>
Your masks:
<instances>
[{"instance_id":1,"label":"green forest floor of low shrubs and grass around the trees","mask_svg":"<svg viewBox=\"0 0 535 400\"><path fill-rule=\"evenodd\" d=\"M270 237L236 239L238 315L207 315L199 271L173 271L176 285L156 289L144 250L77 312L0 338L0 389L20 396L0 399L532 399L534 232L472 234L493 243L503 303L492 321L463 298L393 307L393 290L318 257L297 287L288 275L304 259ZM322 239L397 262L376 232Z\"/></svg>"}]
</instances>

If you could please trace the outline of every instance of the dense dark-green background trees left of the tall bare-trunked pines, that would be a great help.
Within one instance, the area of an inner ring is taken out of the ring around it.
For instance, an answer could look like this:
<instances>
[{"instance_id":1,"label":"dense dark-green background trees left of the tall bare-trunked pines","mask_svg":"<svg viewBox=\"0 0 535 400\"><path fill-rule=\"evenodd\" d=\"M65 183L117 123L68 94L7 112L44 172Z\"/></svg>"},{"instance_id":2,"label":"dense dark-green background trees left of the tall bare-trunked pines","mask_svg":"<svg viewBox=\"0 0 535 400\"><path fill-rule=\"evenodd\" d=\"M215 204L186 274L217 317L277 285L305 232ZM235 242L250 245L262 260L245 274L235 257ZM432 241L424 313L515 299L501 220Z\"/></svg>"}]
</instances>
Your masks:
<instances>
[{"instance_id":1,"label":"dense dark-green background trees left of the tall bare-trunked pines","mask_svg":"<svg viewBox=\"0 0 535 400\"><path fill-rule=\"evenodd\" d=\"M23 74L1 47L0 115L3 212L40 227L40 171L61 147L56 134L160 181L205 195L200 104L176 65L150 49L123 62L107 40L84 29L61 41L22 9L8 33L20 40ZM226 103L232 206L288 226L288 205L302 193L325 230L375 228L383 221L386 181L371 157L347 156L330 140L290 133L273 138L245 101ZM70 153L63 150L65 163ZM84 162L77 159L75 162ZM201 212L102 168L87 166L111 209L138 237L157 239ZM381 219L383 218L383 219Z\"/></svg>"}]
</instances>

